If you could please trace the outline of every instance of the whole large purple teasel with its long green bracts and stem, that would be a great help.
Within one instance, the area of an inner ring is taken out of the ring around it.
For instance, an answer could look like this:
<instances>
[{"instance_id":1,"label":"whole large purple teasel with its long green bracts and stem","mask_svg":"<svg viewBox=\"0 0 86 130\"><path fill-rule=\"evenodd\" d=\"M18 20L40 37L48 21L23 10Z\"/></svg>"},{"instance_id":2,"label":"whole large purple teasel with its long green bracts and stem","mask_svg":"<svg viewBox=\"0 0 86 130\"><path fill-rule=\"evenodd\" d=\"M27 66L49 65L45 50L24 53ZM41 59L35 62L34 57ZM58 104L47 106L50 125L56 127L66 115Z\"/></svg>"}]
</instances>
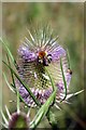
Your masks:
<instances>
[{"instance_id":1,"label":"whole large purple teasel with its long green bracts and stem","mask_svg":"<svg viewBox=\"0 0 86 130\"><path fill-rule=\"evenodd\" d=\"M20 44L17 61L1 39L8 52L8 63L4 61L3 63L11 72L12 83L9 83L3 74L4 79L14 93L18 92L18 98L28 107L39 107L29 128L34 129L44 116L52 126L56 126L55 115L51 112L51 107L55 105L61 109L59 107L61 103L68 103L71 96L83 90L69 94L72 70L67 51L57 42L58 37L54 38L53 32L48 35L45 28L35 31L34 35L31 35L29 30L28 32L30 38L25 38ZM11 61L17 73L11 67Z\"/></svg>"}]
</instances>

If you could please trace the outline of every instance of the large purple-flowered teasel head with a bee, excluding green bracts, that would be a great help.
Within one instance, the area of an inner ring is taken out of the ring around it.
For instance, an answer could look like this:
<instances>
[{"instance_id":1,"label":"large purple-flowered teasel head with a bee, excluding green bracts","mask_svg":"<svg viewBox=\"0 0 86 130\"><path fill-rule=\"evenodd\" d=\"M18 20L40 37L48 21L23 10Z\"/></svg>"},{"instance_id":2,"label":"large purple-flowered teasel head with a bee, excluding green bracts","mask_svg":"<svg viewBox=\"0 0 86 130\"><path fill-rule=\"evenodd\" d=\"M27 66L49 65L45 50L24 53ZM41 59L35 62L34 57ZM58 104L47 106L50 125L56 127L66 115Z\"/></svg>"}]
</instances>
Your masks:
<instances>
[{"instance_id":1,"label":"large purple-flowered teasel head with a bee, excluding green bracts","mask_svg":"<svg viewBox=\"0 0 86 130\"><path fill-rule=\"evenodd\" d=\"M25 41L18 49L17 70L19 77L28 84L39 102L44 104L53 92L48 72L54 86L57 88L56 102L58 103L63 99L66 91L60 58L67 92L69 91L72 75L67 51L58 43L58 37L54 38L52 32L47 32L44 29L38 30L34 35L31 35L29 30L28 32L30 38L25 38ZM16 86L28 106L37 106L33 99L19 81L16 82Z\"/></svg>"}]
</instances>

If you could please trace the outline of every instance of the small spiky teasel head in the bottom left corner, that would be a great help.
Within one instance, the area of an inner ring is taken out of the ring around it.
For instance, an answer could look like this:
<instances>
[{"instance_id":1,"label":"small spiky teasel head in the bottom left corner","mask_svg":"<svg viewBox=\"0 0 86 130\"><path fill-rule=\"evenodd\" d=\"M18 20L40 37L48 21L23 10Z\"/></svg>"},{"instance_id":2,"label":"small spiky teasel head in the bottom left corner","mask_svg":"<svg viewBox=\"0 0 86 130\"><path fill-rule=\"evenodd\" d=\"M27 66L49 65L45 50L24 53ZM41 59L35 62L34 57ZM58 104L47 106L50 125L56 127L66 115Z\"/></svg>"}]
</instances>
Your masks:
<instances>
[{"instance_id":1,"label":"small spiky teasel head in the bottom left corner","mask_svg":"<svg viewBox=\"0 0 86 130\"><path fill-rule=\"evenodd\" d=\"M6 107L6 105L5 105L5 110L6 110L6 115L8 115L9 119L6 119L3 112L0 110L2 118L3 118L3 121L4 121L1 123L4 128L8 128L9 130L19 129L19 128L20 129L23 128L25 130L29 130L29 122L30 122L29 113L26 114L24 112L19 112L19 113L14 112L14 113L10 114L10 110Z\"/></svg>"}]
</instances>

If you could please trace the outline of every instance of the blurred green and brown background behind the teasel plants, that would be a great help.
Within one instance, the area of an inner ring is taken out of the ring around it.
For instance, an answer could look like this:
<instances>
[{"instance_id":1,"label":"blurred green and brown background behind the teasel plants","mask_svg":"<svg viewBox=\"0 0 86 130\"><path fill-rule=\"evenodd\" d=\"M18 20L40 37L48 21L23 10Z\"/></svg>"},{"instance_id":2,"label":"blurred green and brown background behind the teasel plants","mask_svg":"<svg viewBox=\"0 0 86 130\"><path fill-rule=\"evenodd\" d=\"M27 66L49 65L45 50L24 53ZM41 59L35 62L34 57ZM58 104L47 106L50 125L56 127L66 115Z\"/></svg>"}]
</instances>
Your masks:
<instances>
[{"instance_id":1,"label":"blurred green and brown background behind the teasel plants","mask_svg":"<svg viewBox=\"0 0 86 130\"><path fill-rule=\"evenodd\" d=\"M59 43L69 51L73 72L70 91L84 89L84 3L2 3L2 32L9 40L15 58L20 40L26 35L26 28L35 28L40 24L49 24L59 36ZM3 58L4 55L3 52ZM11 81L10 73L6 69L5 72ZM12 112L15 109L15 104L9 101L13 99L15 95L3 80L3 106L6 104ZM70 105L63 106L63 110L59 112L56 108L53 110L56 113L59 128L70 130L83 127L84 93L73 98ZM40 127L49 127L47 120L44 119Z\"/></svg>"}]
</instances>

